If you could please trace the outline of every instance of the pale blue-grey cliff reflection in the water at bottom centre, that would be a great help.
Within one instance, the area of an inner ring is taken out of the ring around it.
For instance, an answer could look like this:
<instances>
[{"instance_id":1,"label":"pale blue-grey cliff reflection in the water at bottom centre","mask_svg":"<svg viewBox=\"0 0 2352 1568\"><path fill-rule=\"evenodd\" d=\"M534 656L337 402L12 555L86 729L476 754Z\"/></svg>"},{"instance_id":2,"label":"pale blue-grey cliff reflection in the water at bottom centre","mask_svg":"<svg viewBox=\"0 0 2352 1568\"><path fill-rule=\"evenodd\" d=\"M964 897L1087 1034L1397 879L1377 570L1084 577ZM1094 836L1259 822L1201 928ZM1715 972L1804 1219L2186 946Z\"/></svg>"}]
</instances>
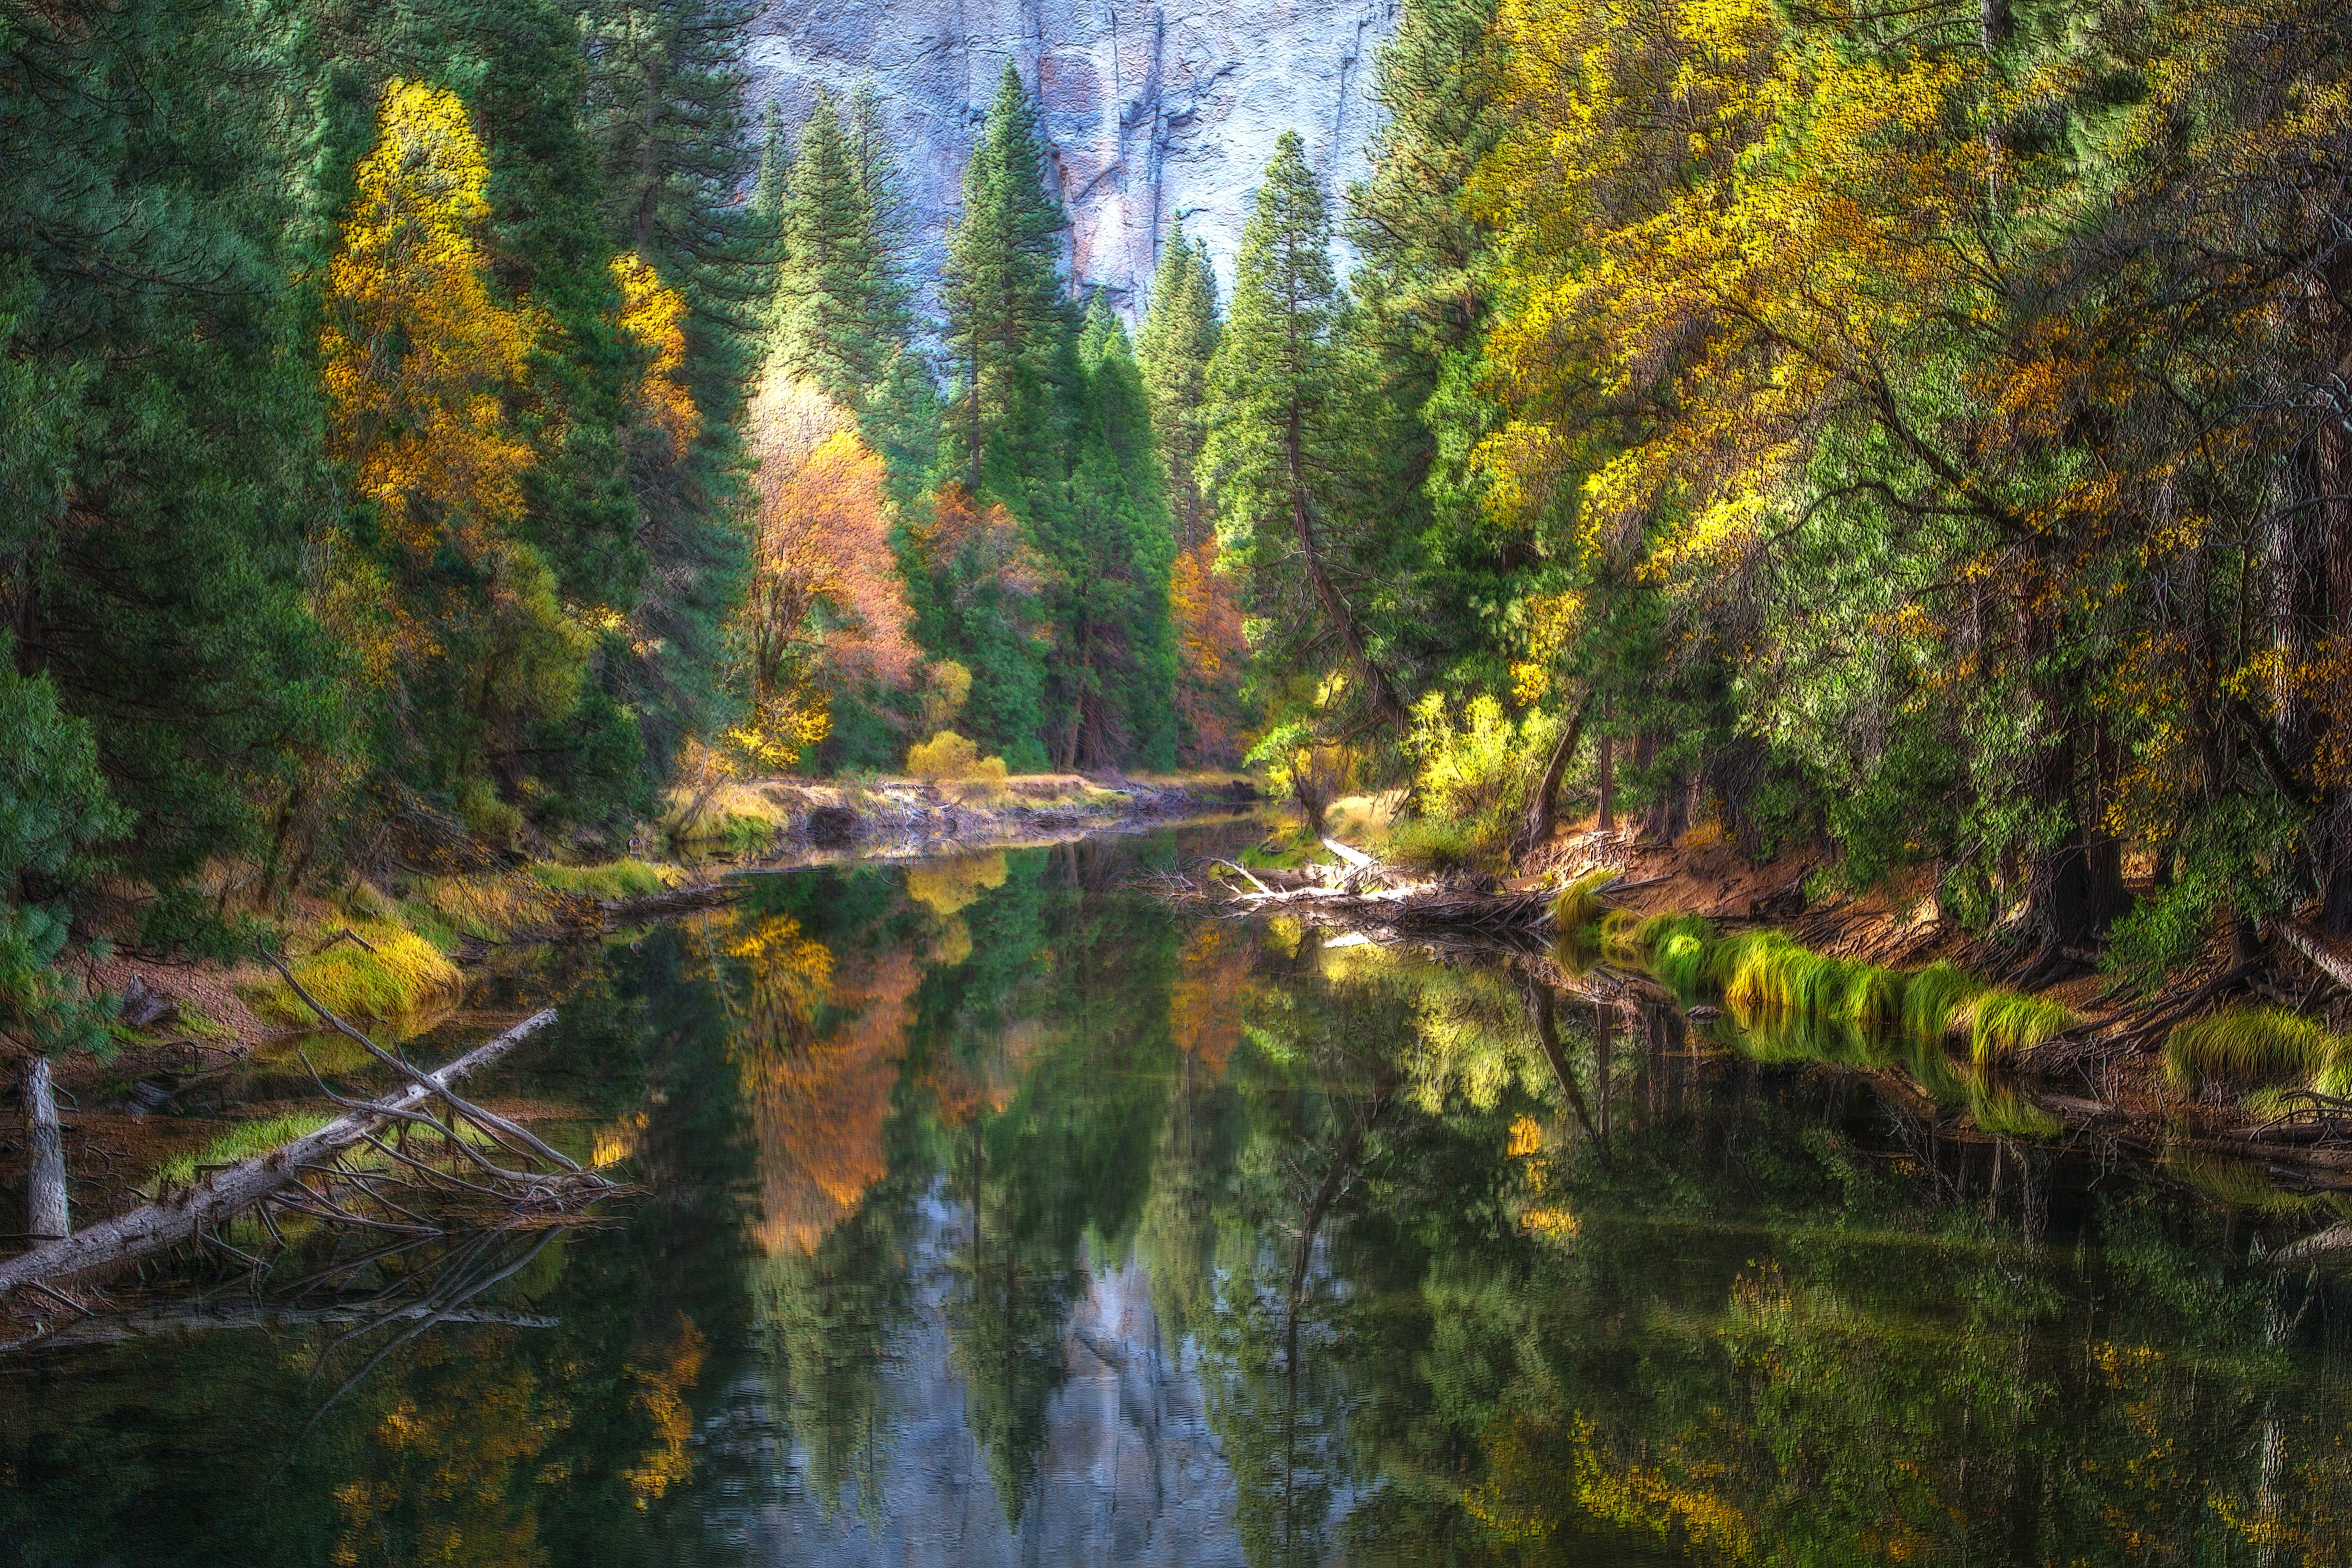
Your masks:
<instances>
[{"instance_id":1,"label":"pale blue-grey cliff reflection in the water at bottom centre","mask_svg":"<svg viewBox=\"0 0 2352 1568\"><path fill-rule=\"evenodd\" d=\"M1018 1533L964 1420L948 1305L969 1218L934 1190L908 1237L915 1307L882 1368L884 1432L840 1495L811 1486L802 1439L781 1502L748 1523L750 1559L851 1563L1240 1563L1235 1483L1190 1347L1171 1363L1141 1262L1089 1267L1063 1328L1065 1378Z\"/></svg>"}]
</instances>

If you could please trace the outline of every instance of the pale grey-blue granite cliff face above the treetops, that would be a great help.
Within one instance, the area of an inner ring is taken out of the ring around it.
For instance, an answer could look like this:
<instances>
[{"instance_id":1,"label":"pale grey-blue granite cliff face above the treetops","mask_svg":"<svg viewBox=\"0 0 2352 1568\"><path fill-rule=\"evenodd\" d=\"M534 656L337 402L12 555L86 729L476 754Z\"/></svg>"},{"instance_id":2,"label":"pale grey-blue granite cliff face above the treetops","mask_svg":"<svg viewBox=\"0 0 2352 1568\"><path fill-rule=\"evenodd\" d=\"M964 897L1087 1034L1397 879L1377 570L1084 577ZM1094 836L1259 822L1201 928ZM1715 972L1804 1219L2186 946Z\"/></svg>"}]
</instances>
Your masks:
<instances>
[{"instance_id":1,"label":"pale grey-blue granite cliff face above the treetops","mask_svg":"<svg viewBox=\"0 0 2352 1568\"><path fill-rule=\"evenodd\" d=\"M1004 61L1044 108L1070 207L1070 275L1134 317L1181 216L1225 282L1275 136L1296 129L1336 200L1378 125L1374 61L1397 0L783 0L753 24L753 103L795 129L816 87L873 78L908 176L915 266L946 259L964 158Z\"/></svg>"}]
</instances>

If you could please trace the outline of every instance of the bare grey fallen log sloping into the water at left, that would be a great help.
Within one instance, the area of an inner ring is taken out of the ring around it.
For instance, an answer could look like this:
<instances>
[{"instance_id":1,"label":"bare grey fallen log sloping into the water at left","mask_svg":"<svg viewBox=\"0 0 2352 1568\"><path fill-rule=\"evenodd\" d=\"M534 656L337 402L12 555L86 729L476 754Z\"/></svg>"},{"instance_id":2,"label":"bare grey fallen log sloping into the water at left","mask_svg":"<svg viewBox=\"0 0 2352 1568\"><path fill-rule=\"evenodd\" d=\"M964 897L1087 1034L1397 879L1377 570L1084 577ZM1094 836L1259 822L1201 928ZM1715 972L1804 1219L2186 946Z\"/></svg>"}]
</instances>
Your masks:
<instances>
[{"instance_id":1,"label":"bare grey fallen log sloping into the water at left","mask_svg":"<svg viewBox=\"0 0 2352 1568\"><path fill-rule=\"evenodd\" d=\"M419 1105L440 1098L452 1084L499 1060L550 1023L555 1023L555 1009L541 1009L454 1063L435 1072L419 1072L402 1088L355 1105L348 1114L336 1117L306 1138L233 1164L193 1187L92 1225L61 1241L47 1241L9 1258L0 1262L0 1298L16 1286L31 1284L38 1288L146 1258L193 1239L205 1227L216 1227L273 1192L299 1182L306 1166L318 1166L343 1150L358 1147L393 1121L414 1117Z\"/></svg>"}]
</instances>

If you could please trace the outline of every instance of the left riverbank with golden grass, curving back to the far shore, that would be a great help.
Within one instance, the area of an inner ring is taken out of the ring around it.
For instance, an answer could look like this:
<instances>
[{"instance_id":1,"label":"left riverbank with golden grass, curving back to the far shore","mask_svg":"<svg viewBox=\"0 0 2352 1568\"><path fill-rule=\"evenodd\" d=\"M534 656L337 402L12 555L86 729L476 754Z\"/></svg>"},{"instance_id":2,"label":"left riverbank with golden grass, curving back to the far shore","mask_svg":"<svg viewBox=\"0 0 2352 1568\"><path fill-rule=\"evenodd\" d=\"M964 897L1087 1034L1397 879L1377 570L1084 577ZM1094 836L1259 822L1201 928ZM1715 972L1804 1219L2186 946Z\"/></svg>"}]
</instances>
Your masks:
<instances>
[{"instance_id":1,"label":"left riverbank with golden grass, curving back to the far shore","mask_svg":"<svg viewBox=\"0 0 2352 1568\"><path fill-rule=\"evenodd\" d=\"M437 844L433 860L452 870L393 860L376 877L287 900L273 924L306 990L379 1039L405 1041L452 1018L503 954L727 903L741 872L1051 844L1247 811L1256 799L1244 773L750 780L715 792L699 818L682 811L689 799L673 799L630 844L637 856L560 863ZM268 964L85 954L78 971L92 990L122 997L122 1016L113 1051L56 1063L75 1225L139 1201L158 1171L252 1152L254 1128L285 1131L325 1105L296 1058L318 1020ZM564 1114L489 1105L524 1124ZM19 1126L9 1107L7 1131ZM21 1187L21 1140L0 1133L0 1190Z\"/></svg>"}]
</instances>

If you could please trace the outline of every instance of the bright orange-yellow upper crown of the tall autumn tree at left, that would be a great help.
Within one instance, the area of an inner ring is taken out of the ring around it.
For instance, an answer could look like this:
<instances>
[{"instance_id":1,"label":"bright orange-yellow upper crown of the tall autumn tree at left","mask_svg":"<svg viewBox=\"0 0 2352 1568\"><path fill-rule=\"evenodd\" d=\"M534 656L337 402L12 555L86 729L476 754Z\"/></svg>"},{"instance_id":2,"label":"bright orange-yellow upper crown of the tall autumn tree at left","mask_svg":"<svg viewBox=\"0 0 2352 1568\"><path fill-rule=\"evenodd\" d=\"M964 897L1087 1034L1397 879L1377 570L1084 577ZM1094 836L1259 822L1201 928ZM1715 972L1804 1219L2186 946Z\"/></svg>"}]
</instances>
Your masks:
<instances>
[{"instance_id":1,"label":"bright orange-yellow upper crown of the tall autumn tree at left","mask_svg":"<svg viewBox=\"0 0 2352 1568\"><path fill-rule=\"evenodd\" d=\"M327 268L327 444L414 555L447 538L480 557L522 510L529 449L501 395L522 381L534 331L482 280L473 228L489 214L487 181L459 96L390 82Z\"/></svg>"}]
</instances>

